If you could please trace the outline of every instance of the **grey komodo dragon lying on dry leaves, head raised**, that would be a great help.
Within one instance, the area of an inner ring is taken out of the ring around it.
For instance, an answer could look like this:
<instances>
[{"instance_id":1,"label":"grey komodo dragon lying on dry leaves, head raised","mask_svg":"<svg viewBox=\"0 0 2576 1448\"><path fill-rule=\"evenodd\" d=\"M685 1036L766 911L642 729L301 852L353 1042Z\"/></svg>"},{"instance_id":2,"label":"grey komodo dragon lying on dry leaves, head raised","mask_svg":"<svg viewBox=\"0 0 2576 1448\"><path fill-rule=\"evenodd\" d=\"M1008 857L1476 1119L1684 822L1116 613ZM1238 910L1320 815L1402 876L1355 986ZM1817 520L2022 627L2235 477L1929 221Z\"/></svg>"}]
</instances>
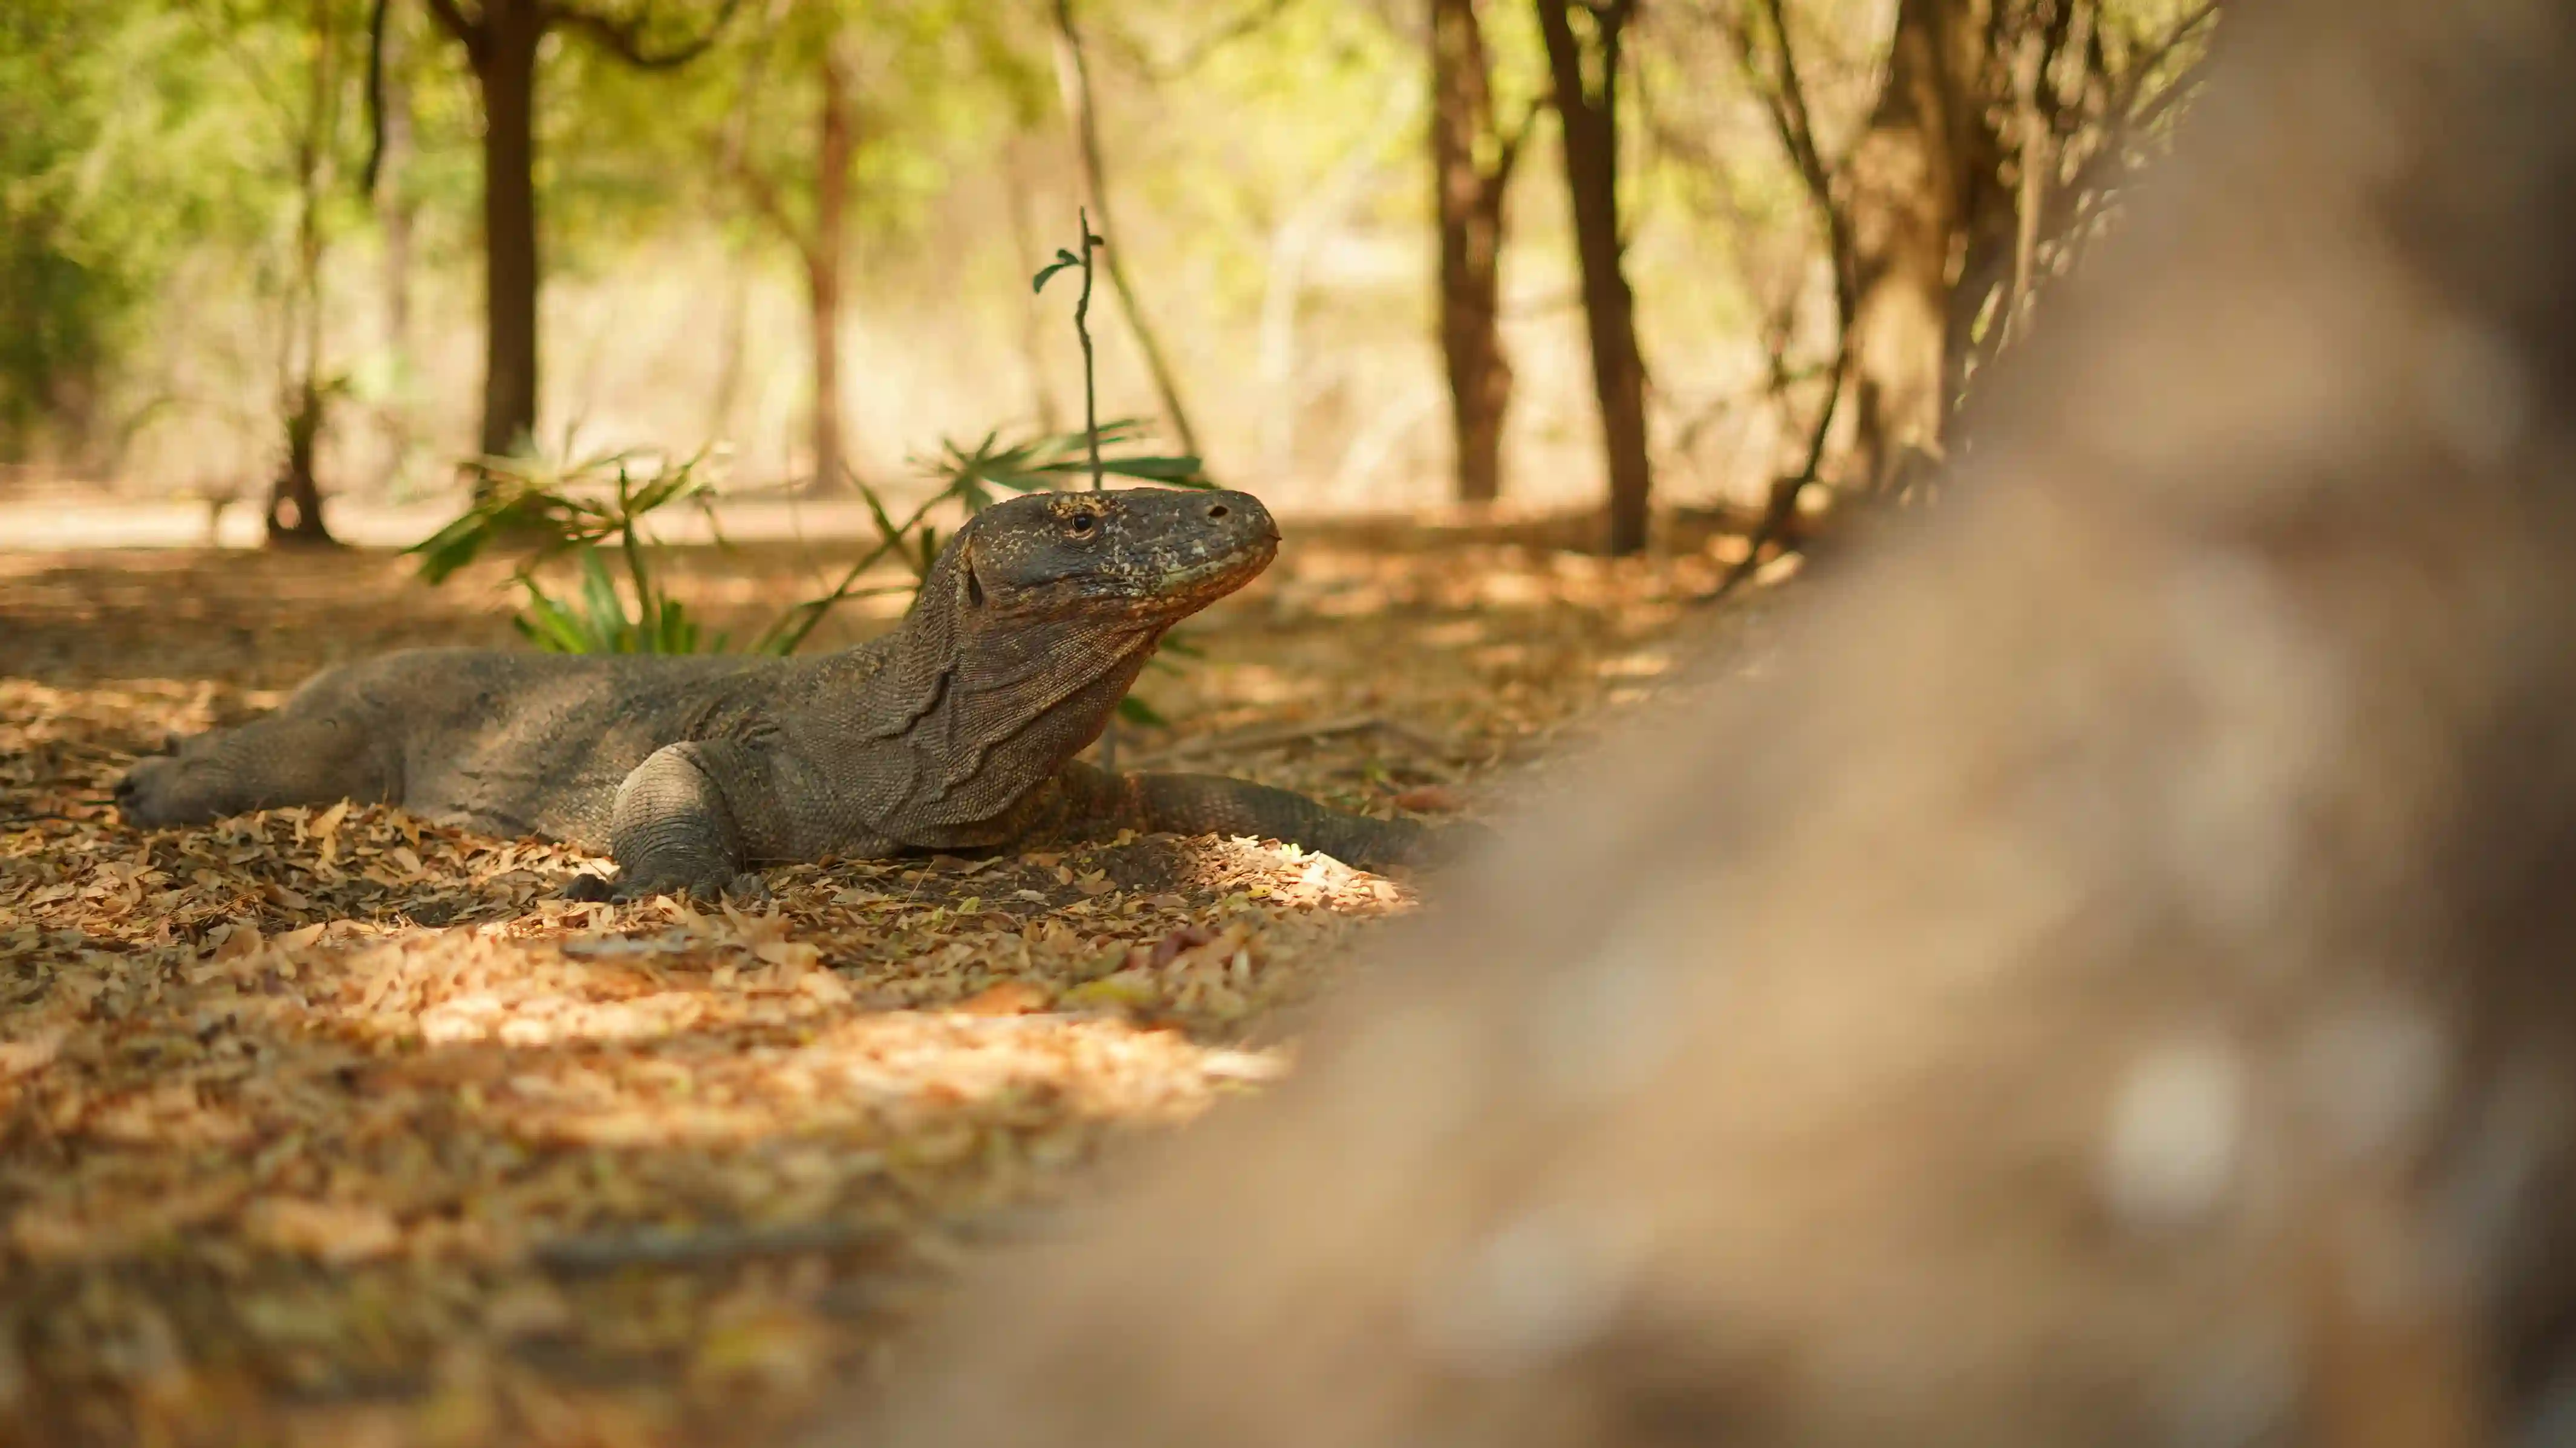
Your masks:
<instances>
[{"instance_id":1,"label":"grey komodo dragon lying on dry leaves, head raised","mask_svg":"<svg viewBox=\"0 0 2576 1448\"><path fill-rule=\"evenodd\" d=\"M309 680L276 714L147 757L134 824L392 801L492 835L608 845L641 899L760 894L762 863L971 850L1105 830L1293 840L1414 863L1422 824L1224 776L1074 760L1162 634L1278 554L1244 492L1030 495L933 562L902 626L814 660L407 649Z\"/></svg>"}]
</instances>

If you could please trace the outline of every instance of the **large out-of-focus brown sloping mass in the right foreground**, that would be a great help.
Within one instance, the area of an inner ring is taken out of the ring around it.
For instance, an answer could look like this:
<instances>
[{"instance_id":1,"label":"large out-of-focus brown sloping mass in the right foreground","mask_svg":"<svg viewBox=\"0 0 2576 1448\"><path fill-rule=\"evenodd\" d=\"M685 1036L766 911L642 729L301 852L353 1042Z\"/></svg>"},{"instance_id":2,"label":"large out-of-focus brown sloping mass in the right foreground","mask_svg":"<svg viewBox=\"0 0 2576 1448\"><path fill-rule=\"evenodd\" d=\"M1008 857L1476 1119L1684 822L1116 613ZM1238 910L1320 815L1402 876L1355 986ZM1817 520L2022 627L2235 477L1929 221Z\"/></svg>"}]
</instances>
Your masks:
<instances>
[{"instance_id":1,"label":"large out-of-focus brown sloping mass in the right foreground","mask_svg":"<svg viewBox=\"0 0 2576 1448\"><path fill-rule=\"evenodd\" d=\"M2576 1440L2576 13L2231 23L1955 502L850 1443Z\"/></svg>"}]
</instances>

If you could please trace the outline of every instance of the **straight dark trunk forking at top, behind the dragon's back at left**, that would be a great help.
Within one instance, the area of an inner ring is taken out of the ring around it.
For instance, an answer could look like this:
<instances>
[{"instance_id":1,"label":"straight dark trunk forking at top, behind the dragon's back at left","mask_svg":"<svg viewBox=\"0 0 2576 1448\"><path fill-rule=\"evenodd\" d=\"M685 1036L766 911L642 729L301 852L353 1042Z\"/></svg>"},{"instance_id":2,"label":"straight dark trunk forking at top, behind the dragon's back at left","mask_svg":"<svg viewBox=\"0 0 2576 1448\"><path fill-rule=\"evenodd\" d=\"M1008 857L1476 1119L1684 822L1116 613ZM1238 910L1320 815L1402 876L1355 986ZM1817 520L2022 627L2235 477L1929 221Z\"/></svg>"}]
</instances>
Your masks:
<instances>
[{"instance_id":1,"label":"straight dark trunk forking at top, behind the dragon's back at left","mask_svg":"<svg viewBox=\"0 0 2576 1448\"><path fill-rule=\"evenodd\" d=\"M484 415L482 451L536 435L536 0L489 0L474 80L484 103Z\"/></svg>"}]
</instances>

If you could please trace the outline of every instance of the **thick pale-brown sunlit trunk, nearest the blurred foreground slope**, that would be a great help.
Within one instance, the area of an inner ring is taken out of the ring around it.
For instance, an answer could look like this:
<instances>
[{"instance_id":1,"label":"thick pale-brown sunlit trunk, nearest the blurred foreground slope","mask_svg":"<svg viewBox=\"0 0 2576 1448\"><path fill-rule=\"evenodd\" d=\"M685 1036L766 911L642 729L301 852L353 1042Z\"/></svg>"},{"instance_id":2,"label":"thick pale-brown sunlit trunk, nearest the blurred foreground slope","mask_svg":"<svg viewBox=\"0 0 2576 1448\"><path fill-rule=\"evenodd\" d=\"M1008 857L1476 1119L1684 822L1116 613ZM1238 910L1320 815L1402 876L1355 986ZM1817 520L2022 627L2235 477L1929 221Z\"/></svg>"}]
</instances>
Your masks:
<instances>
[{"instance_id":1,"label":"thick pale-brown sunlit trunk, nearest the blurred foreground slope","mask_svg":"<svg viewBox=\"0 0 2576 1448\"><path fill-rule=\"evenodd\" d=\"M1989 15L1991 0L1901 0L1888 75L1852 149L1852 453L1842 477L1852 492L1901 492L1914 461L1942 451L1953 332L1971 319L1953 314L1953 255L1976 191L1996 186L1999 142L1978 75Z\"/></svg>"}]
</instances>

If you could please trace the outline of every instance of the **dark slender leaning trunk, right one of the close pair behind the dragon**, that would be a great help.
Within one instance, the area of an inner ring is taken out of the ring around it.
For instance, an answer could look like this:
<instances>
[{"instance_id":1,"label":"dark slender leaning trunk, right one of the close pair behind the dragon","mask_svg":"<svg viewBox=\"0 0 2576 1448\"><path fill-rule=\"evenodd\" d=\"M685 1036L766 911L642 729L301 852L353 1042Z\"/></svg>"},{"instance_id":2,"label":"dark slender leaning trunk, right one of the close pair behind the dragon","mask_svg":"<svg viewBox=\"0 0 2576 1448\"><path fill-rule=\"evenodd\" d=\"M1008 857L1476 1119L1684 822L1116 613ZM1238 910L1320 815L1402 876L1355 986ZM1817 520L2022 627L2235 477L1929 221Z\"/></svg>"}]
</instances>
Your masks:
<instances>
[{"instance_id":1,"label":"dark slender leaning trunk, right one of the close pair behind the dragon","mask_svg":"<svg viewBox=\"0 0 2576 1448\"><path fill-rule=\"evenodd\" d=\"M1584 330L1592 343L1592 392L1600 399L1602 451L1610 464L1610 554L1646 549L1646 505L1654 472L1646 461L1646 358L1636 345L1636 294L1620 268L1618 229L1618 67L1620 31L1633 0L1587 8L1600 88L1584 80L1569 0L1538 0L1548 44L1548 77L1566 147L1566 193L1574 201L1574 252L1584 281Z\"/></svg>"}]
</instances>

